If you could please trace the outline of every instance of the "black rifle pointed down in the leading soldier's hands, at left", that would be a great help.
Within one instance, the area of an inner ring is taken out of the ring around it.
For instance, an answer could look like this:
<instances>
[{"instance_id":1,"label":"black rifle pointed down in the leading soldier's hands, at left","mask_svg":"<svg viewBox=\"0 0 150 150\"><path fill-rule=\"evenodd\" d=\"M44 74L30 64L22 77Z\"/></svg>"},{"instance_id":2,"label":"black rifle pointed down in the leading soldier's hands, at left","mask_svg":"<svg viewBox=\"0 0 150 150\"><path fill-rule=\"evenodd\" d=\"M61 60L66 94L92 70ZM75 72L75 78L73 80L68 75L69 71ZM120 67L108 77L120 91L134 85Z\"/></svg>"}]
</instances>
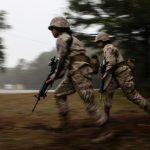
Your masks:
<instances>
[{"instance_id":1,"label":"black rifle pointed down in the leading soldier's hands, at left","mask_svg":"<svg viewBox=\"0 0 150 150\"><path fill-rule=\"evenodd\" d=\"M34 112L38 102L41 100L41 98L45 98L47 95L47 91L49 90L48 87L52 87L53 85L53 82L50 82L50 83L47 83L46 81L50 78L50 76L55 72L55 70L57 69L57 66L58 66L58 61L59 59L57 59L55 56L53 58L51 58L48 66L50 66L50 72L48 73L46 79L44 80L44 82L42 83L42 86L38 92L37 95L34 95L34 97L37 99L33 109L32 109L32 112Z\"/></svg>"}]
</instances>

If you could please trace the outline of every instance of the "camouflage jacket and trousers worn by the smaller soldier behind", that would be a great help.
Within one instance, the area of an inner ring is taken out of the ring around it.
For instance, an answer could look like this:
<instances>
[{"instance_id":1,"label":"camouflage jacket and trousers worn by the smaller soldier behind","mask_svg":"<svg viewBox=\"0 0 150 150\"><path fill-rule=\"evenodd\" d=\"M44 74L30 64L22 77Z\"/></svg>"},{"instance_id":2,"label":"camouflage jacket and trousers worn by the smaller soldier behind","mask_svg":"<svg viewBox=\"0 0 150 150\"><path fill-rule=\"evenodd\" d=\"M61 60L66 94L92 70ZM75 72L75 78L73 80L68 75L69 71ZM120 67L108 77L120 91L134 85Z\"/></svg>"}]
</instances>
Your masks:
<instances>
[{"instance_id":1,"label":"camouflage jacket and trousers worn by the smaller soldier behind","mask_svg":"<svg viewBox=\"0 0 150 150\"><path fill-rule=\"evenodd\" d=\"M124 60L118 49L115 48L112 44L106 45L103 49L103 52L104 59L106 61L106 73L104 76L106 76L106 74L109 73L109 70L111 70L113 66L116 64L121 64ZM138 104L141 108L146 106L146 100L135 89L132 70L126 63L118 65L118 67L113 72L111 82L107 87L105 87L105 90L107 93L109 93L109 91L115 90L117 86L121 87L124 94L130 101Z\"/></svg>"}]
</instances>

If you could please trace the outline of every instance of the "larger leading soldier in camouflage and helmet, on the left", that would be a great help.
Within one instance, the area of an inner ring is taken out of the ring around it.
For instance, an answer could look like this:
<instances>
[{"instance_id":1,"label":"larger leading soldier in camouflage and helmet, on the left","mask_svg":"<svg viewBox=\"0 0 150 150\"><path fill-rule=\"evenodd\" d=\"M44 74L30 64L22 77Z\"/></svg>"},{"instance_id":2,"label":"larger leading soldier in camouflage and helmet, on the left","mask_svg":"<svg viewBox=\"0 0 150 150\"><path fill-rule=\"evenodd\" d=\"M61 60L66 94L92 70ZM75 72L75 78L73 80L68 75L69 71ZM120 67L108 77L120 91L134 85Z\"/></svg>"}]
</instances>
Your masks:
<instances>
[{"instance_id":1,"label":"larger leading soldier in camouflage and helmet, on the left","mask_svg":"<svg viewBox=\"0 0 150 150\"><path fill-rule=\"evenodd\" d=\"M88 114L99 124L101 113L94 99L91 82L93 69L89 63L89 57L85 55L83 44L72 35L69 22L64 17L53 18L48 29L57 38L56 47L59 64L56 72L47 82L65 75L54 94L59 109L60 127L65 128L68 126L67 96L75 91L83 100Z\"/></svg>"}]
</instances>

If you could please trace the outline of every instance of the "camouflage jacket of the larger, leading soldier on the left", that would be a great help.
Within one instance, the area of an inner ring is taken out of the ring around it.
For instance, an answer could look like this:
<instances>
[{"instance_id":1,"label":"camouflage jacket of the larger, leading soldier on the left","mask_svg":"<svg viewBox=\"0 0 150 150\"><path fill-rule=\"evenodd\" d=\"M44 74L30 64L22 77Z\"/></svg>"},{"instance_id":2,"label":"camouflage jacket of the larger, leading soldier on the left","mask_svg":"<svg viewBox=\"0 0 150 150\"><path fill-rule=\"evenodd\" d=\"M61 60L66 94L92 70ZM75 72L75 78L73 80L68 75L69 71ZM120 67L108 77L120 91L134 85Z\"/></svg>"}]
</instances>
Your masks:
<instances>
[{"instance_id":1,"label":"camouflage jacket of the larger, leading soldier on the left","mask_svg":"<svg viewBox=\"0 0 150 150\"><path fill-rule=\"evenodd\" d=\"M56 47L57 47L58 57L60 59L65 59L62 70L63 71L68 70L69 73L73 73L79 70L81 67L86 66L86 69L84 68L83 73L92 72L93 70L90 67L90 64L88 64L87 62L84 62L84 61L71 62L70 61L71 57L75 55L85 54L85 48L84 48L83 43L74 36L72 36L72 38L73 38L72 44L69 49L68 49L68 41L71 40L71 36L69 34L62 33L57 38Z\"/></svg>"}]
</instances>

